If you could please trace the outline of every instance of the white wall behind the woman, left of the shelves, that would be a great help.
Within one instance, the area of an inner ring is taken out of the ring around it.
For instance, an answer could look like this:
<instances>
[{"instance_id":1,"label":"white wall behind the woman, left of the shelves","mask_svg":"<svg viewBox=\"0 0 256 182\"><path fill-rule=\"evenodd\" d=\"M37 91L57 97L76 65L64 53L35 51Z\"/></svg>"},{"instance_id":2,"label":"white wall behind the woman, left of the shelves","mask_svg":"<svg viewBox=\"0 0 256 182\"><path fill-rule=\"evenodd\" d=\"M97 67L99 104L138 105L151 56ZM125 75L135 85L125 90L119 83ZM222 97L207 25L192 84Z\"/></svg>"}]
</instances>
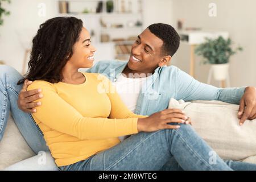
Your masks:
<instances>
[{"instance_id":1,"label":"white wall behind the woman, left of the shelves","mask_svg":"<svg viewBox=\"0 0 256 182\"><path fill-rule=\"evenodd\" d=\"M38 15L38 5L42 2L47 7L46 16ZM21 72L24 48L19 34L27 40L32 38L39 25L54 16L53 3L55 1L51 0L11 0L10 5L5 3L11 14L4 18L4 24L0 26L0 60Z\"/></svg>"}]
</instances>

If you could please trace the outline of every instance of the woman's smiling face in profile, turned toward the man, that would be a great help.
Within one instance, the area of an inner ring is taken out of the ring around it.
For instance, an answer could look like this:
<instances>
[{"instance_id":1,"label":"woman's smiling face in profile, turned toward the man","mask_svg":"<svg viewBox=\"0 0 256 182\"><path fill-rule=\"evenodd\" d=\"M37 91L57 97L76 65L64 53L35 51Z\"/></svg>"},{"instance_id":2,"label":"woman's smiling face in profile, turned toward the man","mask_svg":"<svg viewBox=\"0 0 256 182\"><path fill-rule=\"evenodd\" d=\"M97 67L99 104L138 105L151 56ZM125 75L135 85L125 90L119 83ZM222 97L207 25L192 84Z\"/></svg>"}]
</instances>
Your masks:
<instances>
[{"instance_id":1,"label":"woman's smiling face in profile, turned toward the man","mask_svg":"<svg viewBox=\"0 0 256 182\"><path fill-rule=\"evenodd\" d=\"M76 68L90 68L93 66L96 48L90 43L90 34L82 27L79 40L73 46L73 55L68 60Z\"/></svg>"}]
</instances>

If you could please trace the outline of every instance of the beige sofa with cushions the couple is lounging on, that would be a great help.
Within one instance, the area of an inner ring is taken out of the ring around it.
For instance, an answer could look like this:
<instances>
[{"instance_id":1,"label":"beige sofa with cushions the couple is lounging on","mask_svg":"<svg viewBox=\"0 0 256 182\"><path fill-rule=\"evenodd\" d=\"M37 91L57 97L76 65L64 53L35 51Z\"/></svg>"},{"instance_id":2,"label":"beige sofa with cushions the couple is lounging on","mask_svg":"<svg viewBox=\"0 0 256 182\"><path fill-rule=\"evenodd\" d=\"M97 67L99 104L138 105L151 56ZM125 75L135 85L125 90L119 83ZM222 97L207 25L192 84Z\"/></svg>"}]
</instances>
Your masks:
<instances>
[{"instance_id":1,"label":"beige sofa with cushions the couple is lounging on","mask_svg":"<svg viewBox=\"0 0 256 182\"><path fill-rule=\"evenodd\" d=\"M170 100L170 108L182 109L192 119L192 127L221 156L256 164L256 119L238 125L239 105L221 101L184 102ZM33 163L42 162L37 170L57 170L49 152L35 154L9 117L0 141L0 170L34 170ZM40 161L41 159L46 161ZM46 168L51 164L52 168Z\"/></svg>"}]
</instances>

